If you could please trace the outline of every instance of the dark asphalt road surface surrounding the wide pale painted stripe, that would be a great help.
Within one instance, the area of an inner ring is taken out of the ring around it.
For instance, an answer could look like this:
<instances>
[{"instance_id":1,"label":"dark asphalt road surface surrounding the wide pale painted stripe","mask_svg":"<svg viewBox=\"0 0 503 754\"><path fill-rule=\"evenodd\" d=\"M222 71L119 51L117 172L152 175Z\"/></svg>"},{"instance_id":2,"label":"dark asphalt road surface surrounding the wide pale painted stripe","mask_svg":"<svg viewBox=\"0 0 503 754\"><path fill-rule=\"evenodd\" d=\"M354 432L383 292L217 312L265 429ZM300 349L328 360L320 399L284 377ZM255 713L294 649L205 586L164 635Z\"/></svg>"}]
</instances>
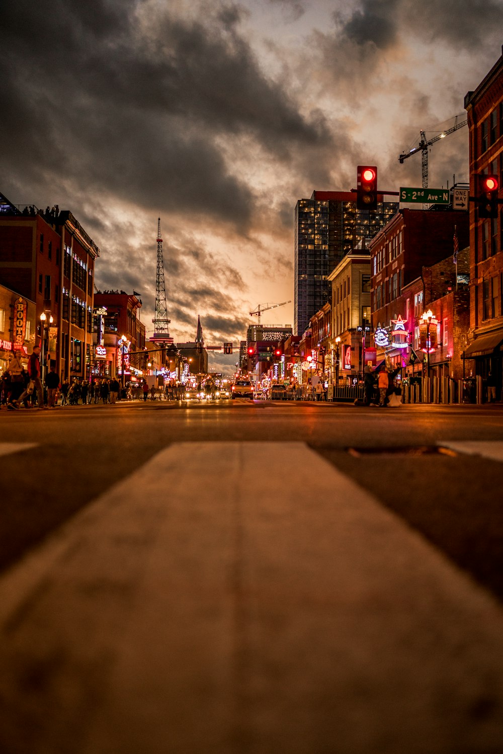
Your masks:
<instances>
[{"instance_id":1,"label":"dark asphalt road surface surrounding the wide pale painted stripe","mask_svg":"<svg viewBox=\"0 0 503 754\"><path fill-rule=\"evenodd\" d=\"M11 484L0 523L0 568L170 443L299 440L503 599L501 464L438 452L442 443L455 441L503 443L503 406L365 409L249 400L186 406L149 400L2 410L0 421L3 441L35 444L3 459ZM281 468L276 473L281 477ZM308 468L299 469L298 479L284 480L292 482L299 494L316 495ZM258 476L261 491L266 486Z\"/></svg>"}]
</instances>

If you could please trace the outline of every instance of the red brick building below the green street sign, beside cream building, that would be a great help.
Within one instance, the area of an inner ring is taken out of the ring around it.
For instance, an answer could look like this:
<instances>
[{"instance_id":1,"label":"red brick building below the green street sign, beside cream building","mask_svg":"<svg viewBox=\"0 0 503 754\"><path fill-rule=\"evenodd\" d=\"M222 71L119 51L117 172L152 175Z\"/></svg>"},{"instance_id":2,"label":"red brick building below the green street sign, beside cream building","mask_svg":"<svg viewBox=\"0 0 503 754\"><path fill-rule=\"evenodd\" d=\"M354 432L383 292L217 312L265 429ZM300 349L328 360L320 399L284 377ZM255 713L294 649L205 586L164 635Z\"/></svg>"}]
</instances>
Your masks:
<instances>
[{"instance_id":1,"label":"red brick building below the green street sign, beside cream building","mask_svg":"<svg viewBox=\"0 0 503 754\"><path fill-rule=\"evenodd\" d=\"M459 280L463 282L457 285L457 292L454 234L463 250L459 253L457 268ZM394 368L406 366L410 349L405 347L405 342L408 339L419 347L418 328L423 311L428 307L433 311L432 302L449 294L452 294L452 307L446 302L437 316L441 317L446 333L451 333L451 339L455 323L458 332L458 326L465 320L461 313L455 313L455 305L459 303L465 311L466 294L462 289L468 282L468 239L468 213L465 211L402 209L370 241L371 331L378 361L388 357ZM443 339L438 342L443 343ZM451 359L447 348L431 352L430 361L435 364L433 373L441 376L443 372L452 371ZM441 369L440 363L443 364Z\"/></svg>"}]
</instances>

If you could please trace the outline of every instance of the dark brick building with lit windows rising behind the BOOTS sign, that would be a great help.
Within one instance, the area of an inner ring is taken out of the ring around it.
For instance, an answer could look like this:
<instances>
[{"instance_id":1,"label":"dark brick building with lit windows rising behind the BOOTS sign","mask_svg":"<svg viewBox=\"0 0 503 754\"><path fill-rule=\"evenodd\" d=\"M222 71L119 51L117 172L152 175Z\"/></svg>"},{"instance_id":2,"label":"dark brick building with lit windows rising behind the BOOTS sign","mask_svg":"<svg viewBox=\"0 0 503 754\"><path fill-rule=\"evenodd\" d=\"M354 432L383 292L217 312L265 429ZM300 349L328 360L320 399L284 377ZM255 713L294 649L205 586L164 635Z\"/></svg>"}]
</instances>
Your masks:
<instances>
[{"instance_id":1,"label":"dark brick building with lit windows rising behind the BOOTS sign","mask_svg":"<svg viewBox=\"0 0 503 754\"><path fill-rule=\"evenodd\" d=\"M18 207L0 195L0 283L35 302L34 342L61 379L90 374L98 256L71 212Z\"/></svg>"}]
</instances>

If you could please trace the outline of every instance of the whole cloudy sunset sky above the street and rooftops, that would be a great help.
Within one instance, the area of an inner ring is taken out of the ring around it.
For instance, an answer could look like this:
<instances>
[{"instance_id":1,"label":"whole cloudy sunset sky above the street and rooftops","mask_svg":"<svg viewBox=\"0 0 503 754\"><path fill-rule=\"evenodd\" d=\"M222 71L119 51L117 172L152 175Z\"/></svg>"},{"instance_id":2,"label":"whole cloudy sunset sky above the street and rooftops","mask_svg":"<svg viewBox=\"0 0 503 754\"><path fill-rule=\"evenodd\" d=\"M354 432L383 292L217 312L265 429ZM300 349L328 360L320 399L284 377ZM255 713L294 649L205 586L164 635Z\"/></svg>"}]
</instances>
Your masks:
<instances>
[{"instance_id":1,"label":"whole cloudy sunset sky above the street and rooftops","mask_svg":"<svg viewBox=\"0 0 503 754\"><path fill-rule=\"evenodd\" d=\"M11 0L0 10L0 191L59 204L143 294L161 216L170 333L244 338L293 299L293 211L313 189L421 185L398 155L462 114L501 55L503 0ZM468 180L468 129L430 185ZM293 323L293 304L264 323ZM214 354L213 368L233 357Z\"/></svg>"}]
</instances>

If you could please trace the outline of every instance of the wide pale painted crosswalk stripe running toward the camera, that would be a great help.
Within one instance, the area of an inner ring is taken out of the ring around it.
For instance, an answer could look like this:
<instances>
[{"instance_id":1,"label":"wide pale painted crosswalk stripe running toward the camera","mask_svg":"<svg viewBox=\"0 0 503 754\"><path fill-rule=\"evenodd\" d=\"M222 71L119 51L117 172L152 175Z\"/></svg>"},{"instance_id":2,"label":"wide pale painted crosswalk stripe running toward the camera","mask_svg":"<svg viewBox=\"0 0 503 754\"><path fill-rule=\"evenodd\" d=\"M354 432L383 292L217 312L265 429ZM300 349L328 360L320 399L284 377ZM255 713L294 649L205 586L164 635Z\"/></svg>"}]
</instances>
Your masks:
<instances>
[{"instance_id":1,"label":"wide pale painted crosswalk stripe running toward the camera","mask_svg":"<svg viewBox=\"0 0 503 754\"><path fill-rule=\"evenodd\" d=\"M0 626L6 754L501 752L501 605L303 443L161 450Z\"/></svg>"}]
</instances>

